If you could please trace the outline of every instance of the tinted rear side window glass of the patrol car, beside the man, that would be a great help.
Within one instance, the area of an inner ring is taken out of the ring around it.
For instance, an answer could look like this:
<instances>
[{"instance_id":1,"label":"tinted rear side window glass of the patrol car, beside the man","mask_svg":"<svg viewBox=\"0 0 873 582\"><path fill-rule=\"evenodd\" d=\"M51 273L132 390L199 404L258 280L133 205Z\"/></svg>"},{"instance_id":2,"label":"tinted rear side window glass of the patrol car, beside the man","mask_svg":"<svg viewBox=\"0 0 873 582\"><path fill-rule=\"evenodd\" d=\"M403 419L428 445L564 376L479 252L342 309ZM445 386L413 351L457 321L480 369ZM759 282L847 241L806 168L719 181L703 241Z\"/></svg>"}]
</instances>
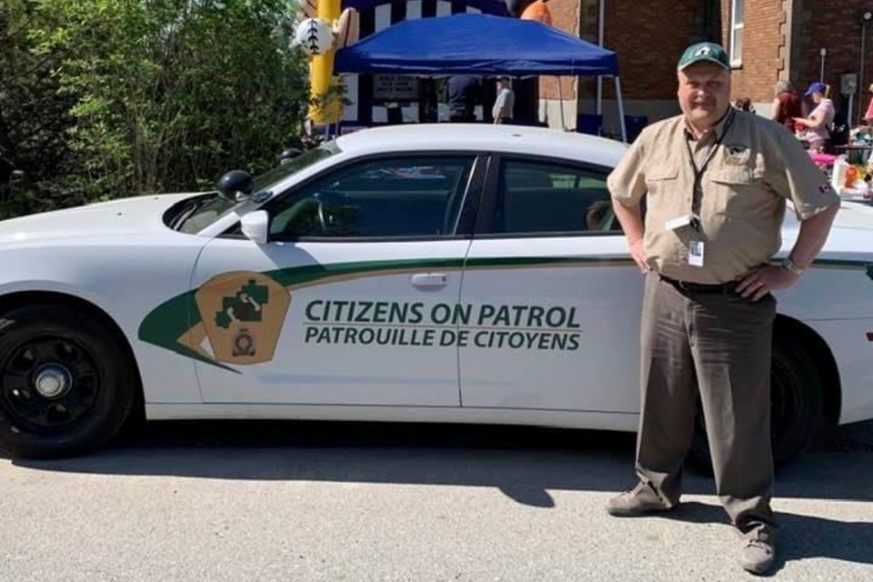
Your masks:
<instances>
[{"instance_id":1,"label":"tinted rear side window glass of the patrol car, beside the man","mask_svg":"<svg viewBox=\"0 0 873 582\"><path fill-rule=\"evenodd\" d=\"M491 230L502 234L618 232L607 174L558 162L504 159Z\"/></svg>"}]
</instances>

